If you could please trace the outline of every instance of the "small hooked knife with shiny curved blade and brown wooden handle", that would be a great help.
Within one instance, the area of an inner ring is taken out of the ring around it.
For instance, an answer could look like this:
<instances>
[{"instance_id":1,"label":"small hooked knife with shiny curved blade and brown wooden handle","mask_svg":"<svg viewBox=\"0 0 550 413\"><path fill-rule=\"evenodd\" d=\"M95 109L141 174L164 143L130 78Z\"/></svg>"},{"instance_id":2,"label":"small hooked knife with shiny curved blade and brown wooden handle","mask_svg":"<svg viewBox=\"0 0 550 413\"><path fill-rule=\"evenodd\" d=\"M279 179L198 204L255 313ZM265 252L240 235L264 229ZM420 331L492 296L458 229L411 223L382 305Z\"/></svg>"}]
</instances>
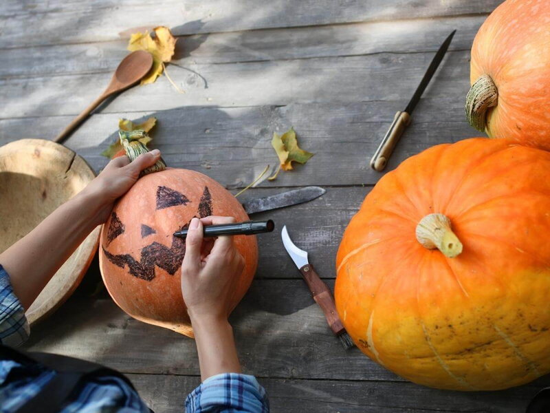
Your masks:
<instances>
[{"instance_id":1,"label":"small hooked knife with shiny curved blade and brown wooden handle","mask_svg":"<svg viewBox=\"0 0 550 413\"><path fill-rule=\"evenodd\" d=\"M332 332L340 338L342 346L344 346L346 350L353 347L353 341L346 332L346 329L342 324L342 320L340 320L340 316L336 312L336 303L334 302L334 297L332 296L331 290L329 289L329 286L327 286L327 284L320 279L314 266L309 263L307 251L301 250L294 244L294 242L292 242L288 235L286 225L283 226L283 230L281 231L281 238L283 238L283 245L285 246L287 253L290 255L292 261L302 274L311 295L314 297L314 300L325 314L325 318L327 319L327 323L329 324Z\"/></svg>"}]
</instances>

